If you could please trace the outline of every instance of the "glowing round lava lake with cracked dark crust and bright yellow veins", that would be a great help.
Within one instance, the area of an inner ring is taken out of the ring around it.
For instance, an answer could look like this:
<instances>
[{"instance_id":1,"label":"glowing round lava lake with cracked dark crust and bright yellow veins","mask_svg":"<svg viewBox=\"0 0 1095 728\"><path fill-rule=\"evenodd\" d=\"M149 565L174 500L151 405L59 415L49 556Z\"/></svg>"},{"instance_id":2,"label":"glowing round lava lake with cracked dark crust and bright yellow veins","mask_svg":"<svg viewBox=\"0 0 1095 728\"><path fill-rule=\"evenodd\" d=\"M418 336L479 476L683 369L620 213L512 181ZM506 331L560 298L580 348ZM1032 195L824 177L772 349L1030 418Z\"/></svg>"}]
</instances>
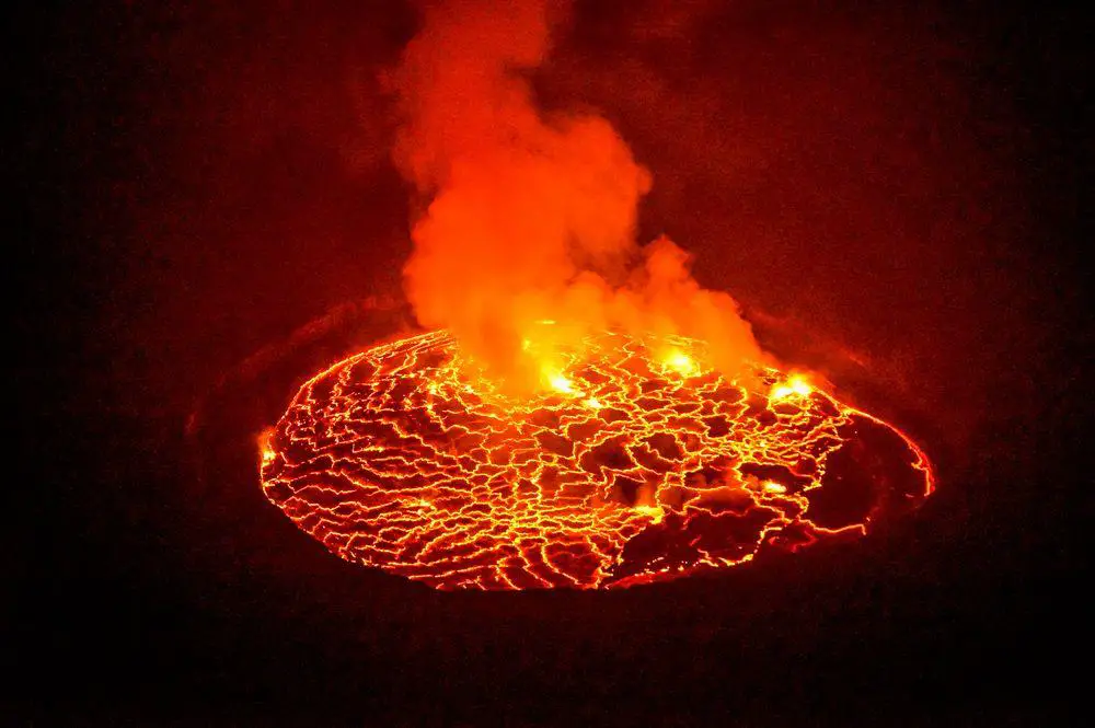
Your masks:
<instances>
[{"instance_id":1,"label":"glowing round lava lake with cracked dark crust and bright yellow veins","mask_svg":"<svg viewBox=\"0 0 1095 728\"><path fill-rule=\"evenodd\" d=\"M932 490L894 427L693 339L589 336L515 397L446 332L306 383L264 438L266 496L338 556L438 589L608 588L860 535Z\"/></svg>"}]
</instances>

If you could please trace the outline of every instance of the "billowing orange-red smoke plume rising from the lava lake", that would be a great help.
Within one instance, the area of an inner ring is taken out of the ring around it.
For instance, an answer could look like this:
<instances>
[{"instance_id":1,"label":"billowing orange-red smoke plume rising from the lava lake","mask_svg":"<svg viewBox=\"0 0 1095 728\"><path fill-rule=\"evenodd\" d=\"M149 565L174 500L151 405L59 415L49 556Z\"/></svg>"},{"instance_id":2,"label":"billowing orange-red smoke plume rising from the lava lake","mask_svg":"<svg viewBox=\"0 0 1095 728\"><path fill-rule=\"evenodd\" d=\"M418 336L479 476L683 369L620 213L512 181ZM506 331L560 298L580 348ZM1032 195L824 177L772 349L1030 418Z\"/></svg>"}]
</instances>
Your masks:
<instances>
[{"instance_id":1,"label":"billowing orange-red smoke plume rising from the lava lake","mask_svg":"<svg viewBox=\"0 0 1095 728\"><path fill-rule=\"evenodd\" d=\"M428 203L404 270L419 323L448 328L520 389L549 383L553 353L603 328L703 339L706 363L730 377L765 360L734 300L701 288L683 251L636 244L650 174L615 129L537 108L528 74L566 5L450 0L423 12L387 79L395 162Z\"/></svg>"}]
</instances>

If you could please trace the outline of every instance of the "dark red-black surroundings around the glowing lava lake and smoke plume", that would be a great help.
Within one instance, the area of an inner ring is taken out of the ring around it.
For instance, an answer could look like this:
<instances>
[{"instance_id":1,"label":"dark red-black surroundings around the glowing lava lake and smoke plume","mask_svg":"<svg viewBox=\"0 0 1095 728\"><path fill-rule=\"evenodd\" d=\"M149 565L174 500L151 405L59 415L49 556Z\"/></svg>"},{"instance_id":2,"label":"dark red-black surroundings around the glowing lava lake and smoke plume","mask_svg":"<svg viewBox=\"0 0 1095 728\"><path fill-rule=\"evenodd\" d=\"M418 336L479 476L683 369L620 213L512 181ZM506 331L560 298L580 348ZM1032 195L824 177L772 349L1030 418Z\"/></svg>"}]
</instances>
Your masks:
<instances>
[{"instance_id":1,"label":"dark red-black surroundings around the glowing lava lake and smoke plume","mask_svg":"<svg viewBox=\"0 0 1095 728\"><path fill-rule=\"evenodd\" d=\"M1079 724L1091 27L844 5L578 2L534 82L652 170L644 239L917 436L940 493L726 577L456 596L328 556L253 470L293 384L402 321L355 302L397 297L410 252L376 79L414 11L21 9L4 713Z\"/></svg>"}]
</instances>

